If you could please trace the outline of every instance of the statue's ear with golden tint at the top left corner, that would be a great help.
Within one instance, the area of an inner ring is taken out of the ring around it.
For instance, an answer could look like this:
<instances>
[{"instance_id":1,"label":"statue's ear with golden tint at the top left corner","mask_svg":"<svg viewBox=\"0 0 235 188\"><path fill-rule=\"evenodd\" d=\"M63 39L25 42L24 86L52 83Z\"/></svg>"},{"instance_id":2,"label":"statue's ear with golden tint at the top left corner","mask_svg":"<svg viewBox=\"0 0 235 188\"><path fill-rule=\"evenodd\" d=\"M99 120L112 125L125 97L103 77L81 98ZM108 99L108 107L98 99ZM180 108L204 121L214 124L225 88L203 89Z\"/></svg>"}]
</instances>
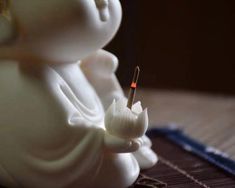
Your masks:
<instances>
[{"instance_id":1,"label":"statue's ear with golden tint at the top left corner","mask_svg":"<svg viewBox=\"0 0 235 188\"><path fill-rule=\"evenodd\" d=\"M15 22L9 0L0 0L0 45L12 42L16 37Z\"/></svg>"}]
</instances>

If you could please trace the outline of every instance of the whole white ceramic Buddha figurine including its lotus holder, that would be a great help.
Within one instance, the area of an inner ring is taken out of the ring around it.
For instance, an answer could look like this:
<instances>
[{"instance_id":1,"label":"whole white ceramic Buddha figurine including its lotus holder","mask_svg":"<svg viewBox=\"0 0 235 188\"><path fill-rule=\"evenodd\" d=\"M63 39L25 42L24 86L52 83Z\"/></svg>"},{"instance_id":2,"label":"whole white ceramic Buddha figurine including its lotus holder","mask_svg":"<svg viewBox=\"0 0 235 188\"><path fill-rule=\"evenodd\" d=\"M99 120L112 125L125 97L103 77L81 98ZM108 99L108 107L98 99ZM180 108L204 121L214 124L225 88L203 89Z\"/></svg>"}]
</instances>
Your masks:
<instances>
[{"instance_id":1,"label":"whole white ceramic Buddha figurine including its lotus holder","mask_svg":"<svg viewBox=\"0 0 235 188\"><path fill-rule=\"evenodd\" d=\"M102 48L119 0L0 0L0 184L126 188L157 162Z\"/></svg>"}]
</instances>

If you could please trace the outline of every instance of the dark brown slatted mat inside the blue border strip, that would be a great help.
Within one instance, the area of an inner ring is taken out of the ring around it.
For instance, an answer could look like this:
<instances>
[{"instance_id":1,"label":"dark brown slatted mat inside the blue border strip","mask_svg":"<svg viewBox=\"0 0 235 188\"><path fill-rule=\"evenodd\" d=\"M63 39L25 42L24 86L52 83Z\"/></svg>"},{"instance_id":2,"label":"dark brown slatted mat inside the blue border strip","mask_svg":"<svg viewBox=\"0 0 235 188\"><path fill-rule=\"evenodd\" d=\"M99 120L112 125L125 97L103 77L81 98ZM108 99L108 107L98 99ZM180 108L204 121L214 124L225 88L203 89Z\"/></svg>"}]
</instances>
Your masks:
<instances>
[{"instance_id":1,"label":"dark brown slatted mat inside the blue border strip","mask_svg":"<svg viewBox=\"0 0 235 188\"><path fill-rule=\"evenodd\" d=\"M143 171L167 186L141 186L141 188L235 188L235 178L207 161L186 152L163 137L152 138L153 150L159 162ZM161 184L163 185L163 184ZM133 188L139 188L134 185Z\"/></svg>"}]
</instances>

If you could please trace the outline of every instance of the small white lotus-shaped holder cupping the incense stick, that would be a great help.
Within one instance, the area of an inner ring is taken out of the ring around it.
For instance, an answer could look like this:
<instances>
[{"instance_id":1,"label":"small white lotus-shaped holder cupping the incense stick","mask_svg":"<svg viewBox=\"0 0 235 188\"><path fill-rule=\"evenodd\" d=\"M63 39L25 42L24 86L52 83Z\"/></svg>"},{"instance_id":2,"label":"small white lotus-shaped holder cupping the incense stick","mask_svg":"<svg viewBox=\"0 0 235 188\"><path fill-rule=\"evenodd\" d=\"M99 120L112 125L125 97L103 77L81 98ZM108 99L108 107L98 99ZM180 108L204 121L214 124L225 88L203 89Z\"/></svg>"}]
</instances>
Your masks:
<instances>
[{"instance_id":1,"label":"small white lotus-shaped holder cupping the incense stick","mask_svg":"<svg viewBox=\"0 0 235 188\"><path fill-rule=\"evenodd\" d=\"M115 136L127 139L141 137L148 128L148 112L143 111L141 103L137 102L130 110L127 100L113 101L105 114L105 127Z\"/></svg>"}]
</instances>

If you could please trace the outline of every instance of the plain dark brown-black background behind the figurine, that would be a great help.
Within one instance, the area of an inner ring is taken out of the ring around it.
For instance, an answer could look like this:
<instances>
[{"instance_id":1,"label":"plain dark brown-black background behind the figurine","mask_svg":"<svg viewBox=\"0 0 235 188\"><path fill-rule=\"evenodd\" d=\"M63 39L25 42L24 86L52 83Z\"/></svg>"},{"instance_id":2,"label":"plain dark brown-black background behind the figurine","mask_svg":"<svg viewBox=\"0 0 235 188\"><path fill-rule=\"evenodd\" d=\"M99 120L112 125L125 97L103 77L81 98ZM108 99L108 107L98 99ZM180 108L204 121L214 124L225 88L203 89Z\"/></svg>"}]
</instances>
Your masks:
<instances>
[{"instance_id":1,"label":"plain dark brown-black background behind the figurine","mask_svg":"<svg viewBox=\"0 0 235 188\"><path fill-rule=\"evenodd\" d=\"M106 47L129 85L235 94L235 1L122 0L123 22Z\"/></svg>"}]
</instances>

